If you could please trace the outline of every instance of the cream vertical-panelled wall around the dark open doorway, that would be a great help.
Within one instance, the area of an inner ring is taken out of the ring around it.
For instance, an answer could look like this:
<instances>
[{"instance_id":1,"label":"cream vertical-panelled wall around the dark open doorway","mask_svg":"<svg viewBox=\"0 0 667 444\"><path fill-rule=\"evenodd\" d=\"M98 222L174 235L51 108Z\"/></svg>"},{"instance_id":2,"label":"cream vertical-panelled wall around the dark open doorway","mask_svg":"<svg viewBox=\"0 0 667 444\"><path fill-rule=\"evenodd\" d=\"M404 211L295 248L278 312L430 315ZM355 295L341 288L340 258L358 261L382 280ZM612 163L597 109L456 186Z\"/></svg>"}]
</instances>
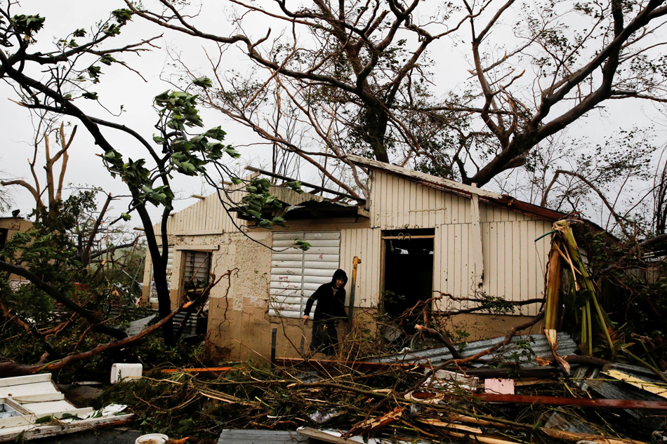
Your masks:
<instances>
[{"instance_id":1,"label":"cream vertical-panelled wall around the dark open doorway","mask_svg":"<svg viewBox=\"0 0 667 444\"><path fill-rule=\"evenodd\" d=\"M371 282L357 284L360 295L372 295L360 298L364 307L377 304L381 291L381 230L435 228L433 290L458 297L473 297L480 290L474 276L470 199L372 170L369 201L371 229L344 230L341 246L345 267L351 268L355 255L366 260L359 280ZM485 203L480 203L480 222L481 290L513 301L542 297L549 238L534 240L551 230L551 222ZM450 309L465 306L465 302L443 304ZM531 316L538 309L539 304L531 304L520 314Z\"/></svg>"}]
</instances>

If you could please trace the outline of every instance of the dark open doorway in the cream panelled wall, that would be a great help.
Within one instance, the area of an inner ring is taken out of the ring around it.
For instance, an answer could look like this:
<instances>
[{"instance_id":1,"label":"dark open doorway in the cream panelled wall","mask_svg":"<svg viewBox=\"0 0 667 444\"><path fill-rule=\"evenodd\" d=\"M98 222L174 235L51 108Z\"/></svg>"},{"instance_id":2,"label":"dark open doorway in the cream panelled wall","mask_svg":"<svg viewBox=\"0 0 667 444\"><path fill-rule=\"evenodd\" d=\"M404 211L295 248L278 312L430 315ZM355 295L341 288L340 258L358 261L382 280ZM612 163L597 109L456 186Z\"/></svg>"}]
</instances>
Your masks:
<instances>
[{"instance_id":1,"label":"dark open doorway in the cream panelled wall","mask_svg":"<svg viewBox=\"0 0 667 444\"><path fill-rule=\"evenodd\" d=\"M431 297L433 229L385 231L383 303L390 315L402 314Z\"/></svg>"}]
</instances>

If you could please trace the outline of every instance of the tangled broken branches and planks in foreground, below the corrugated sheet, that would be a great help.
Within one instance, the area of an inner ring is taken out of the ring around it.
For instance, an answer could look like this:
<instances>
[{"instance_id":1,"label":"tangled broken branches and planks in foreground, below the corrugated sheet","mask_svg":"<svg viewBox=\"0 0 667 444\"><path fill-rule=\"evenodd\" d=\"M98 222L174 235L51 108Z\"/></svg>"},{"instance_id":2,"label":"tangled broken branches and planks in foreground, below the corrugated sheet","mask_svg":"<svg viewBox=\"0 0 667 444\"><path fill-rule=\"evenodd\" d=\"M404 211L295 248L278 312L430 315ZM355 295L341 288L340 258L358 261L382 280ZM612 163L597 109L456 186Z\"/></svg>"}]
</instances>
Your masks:
<instances>
[{"instance_id":1,"label":"tangled broken branches and planks in foreground, below the corrugated sheet","mask_svg":"<svg viewBox=\"0 0 667 444\"><path fill-rule=\"evenodd\" d=\"M576 371L567 379L553 361L552 377L510 378L516 394L498 394L484 393L486 381L471 376L494 369L312 359L289 363L273 369L245 363L218 373L154 372L125 384L124 393L128 400L140 400L144 417L164 417L164 423L177 427L190 417L185 412L199 411L208 418L199 427L211 431L220 427L218 433L222 429L298 430L299 436L348 444L446 440L509 444L555 439L633 444L661 429L640 426L628 412L667 417L663 398L606 375L590 377L579 370L583 365L574 366ZM628 368L616 370L653 382L641 376L641 369L635 373ZM520 370L514 371L519 374ZM594 384L600 378L639 393L639 398L607 399L586 391L587 381ZM121 391L122 385L110 391ZM654 398L641 399L642 393ZM554 412L562 415L563 430L543 425ZM573 431L568 422L588 427ZM165 429L152 431L166 433Z\"/></svg>"}]
</instances>

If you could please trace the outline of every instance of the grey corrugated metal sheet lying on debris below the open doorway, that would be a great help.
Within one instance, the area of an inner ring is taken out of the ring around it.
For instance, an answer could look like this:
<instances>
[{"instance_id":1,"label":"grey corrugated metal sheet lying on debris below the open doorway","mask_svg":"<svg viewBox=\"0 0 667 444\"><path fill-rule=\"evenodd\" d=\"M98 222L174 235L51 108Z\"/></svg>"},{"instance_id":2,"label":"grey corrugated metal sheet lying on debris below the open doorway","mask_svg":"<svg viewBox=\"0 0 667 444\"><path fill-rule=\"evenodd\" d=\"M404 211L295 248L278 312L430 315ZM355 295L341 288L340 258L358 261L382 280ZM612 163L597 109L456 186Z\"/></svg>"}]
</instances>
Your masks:
<instances>
[{"instance_id":1,"label":"grey corrugated metal sheet lying on debris below the open doorway","mask_svg":"<svg viewBox=\"0 0 667 444\"><path fill-rule=\"evenodd\" d=\"M551 348L549 347L549 344L544 335L522 335L513 337L512 342L510 344L508 344L506 347L501 347L501 349L496 350L496 352L493 355L484 355L482 358L488 359L493 356L494 358L502 358L503 360L508 360L510 358L513 358L512 355L513 353L516 352L520 356L522 365L524 364L537 365L534 356L530 354L522 354L521 353L522 350L517 349L515 345L517 342L525 341L529 337L532 337L534 339L534 342L530 343L530 348L536 356L540 356L541 358L553 357L553 355L551 354ZM463 356L464 358L468 356L474 356L480 353L480 351L489 349L490 347L493 347L495 344L498 344L498 342L502 342L503 339L505 338L496 337L493 339L484 339L483 341L470 342L466 344L465 347L462 347L461 356ZM557 353L560 356L567 356L574 354L574 352L576 351L576 344L574 343L572 338L569 337L567 333L564 332L558 333L557 339L558 339ZM406 363L416 363L416 364L425 364L430 362L432 365L437 365L440 363L444 363L444 361L449 361L452 358L453 356L451 356L451 353L449 352L447 347L439 347L437 349L412 351L406 354L388 356L387 358L369 359L369 362L379 362L379 363L406 362ZM470 365L478 367L481 364L470 363Z\"/></svg>"}]
</instances>

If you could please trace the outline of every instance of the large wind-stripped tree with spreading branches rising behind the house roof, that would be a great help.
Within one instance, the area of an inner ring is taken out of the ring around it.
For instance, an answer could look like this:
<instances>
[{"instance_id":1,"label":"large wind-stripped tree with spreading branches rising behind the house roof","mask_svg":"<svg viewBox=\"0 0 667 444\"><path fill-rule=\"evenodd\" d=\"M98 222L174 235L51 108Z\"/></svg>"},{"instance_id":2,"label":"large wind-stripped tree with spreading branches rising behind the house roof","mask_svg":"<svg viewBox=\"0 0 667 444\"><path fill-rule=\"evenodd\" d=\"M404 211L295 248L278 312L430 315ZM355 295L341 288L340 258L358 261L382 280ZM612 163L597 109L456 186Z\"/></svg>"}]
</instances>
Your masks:
<instances>
[{"instance_id":1,"label":"large wind-stripped tree with spreading branches rising behind the house roof","mask_svg":"<svg viewBox=\"0 0 667 444\"><path fill-rule=\"evenodd\" d=\"M352 195L365 184L348 153L481 187L609 100L667 100L664 0L234 1L238 26L226 36L188 4L125 1L145 20L216 43L206 105ZM220 63L231 47L250 74ZM333 173L336 161L352 170L349 182Z\"/></svg>"}]
</instances>

